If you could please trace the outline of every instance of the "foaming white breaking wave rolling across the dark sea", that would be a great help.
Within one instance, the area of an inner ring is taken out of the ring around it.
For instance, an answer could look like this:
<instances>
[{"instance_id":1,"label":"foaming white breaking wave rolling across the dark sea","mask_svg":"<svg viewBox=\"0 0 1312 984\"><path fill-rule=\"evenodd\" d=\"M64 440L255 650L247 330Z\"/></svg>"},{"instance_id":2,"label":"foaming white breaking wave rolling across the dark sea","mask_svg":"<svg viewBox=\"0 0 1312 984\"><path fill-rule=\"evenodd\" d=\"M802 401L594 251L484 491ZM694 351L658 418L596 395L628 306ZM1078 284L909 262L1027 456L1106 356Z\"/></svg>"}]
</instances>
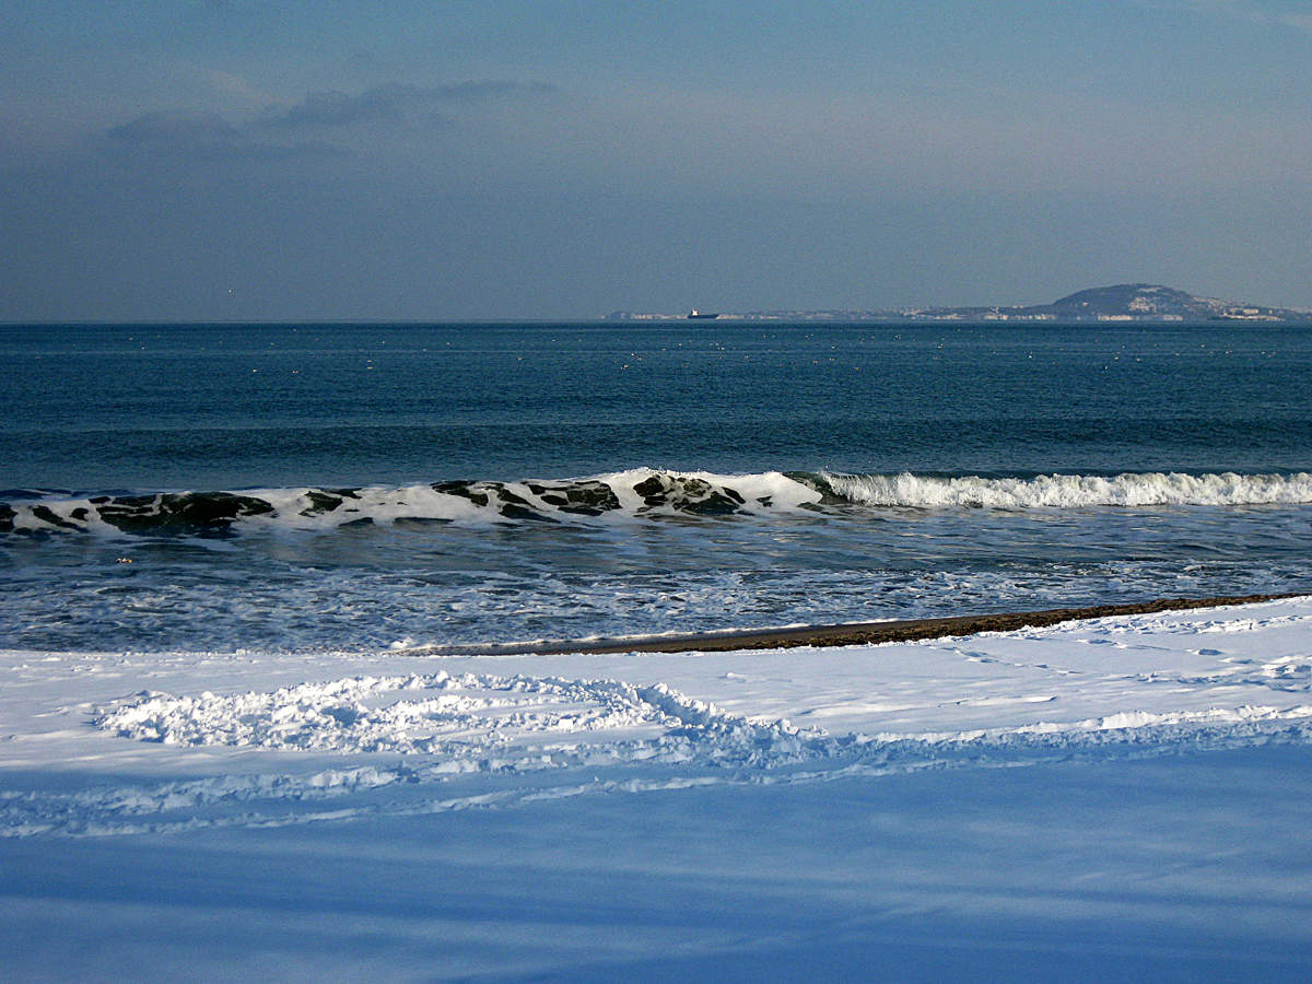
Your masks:
<instances>
[{"instance_id":1,"label":"foaming white breaking wave rolling across the dark sea","mask_svg":"<svg viewBox=\"0 0 1312 984\"><path fill-rule=\"evenodd\" d=\"M552 523L605 518L731 517L853 509L1090 509L1312 502L1312 474L1126 472L1033 478L652 468L547 482L438 482L404 487L245 492L5 493L0 534L58 531L231 535L244 529L375 523Z\"/></svg>"}]
</instances>

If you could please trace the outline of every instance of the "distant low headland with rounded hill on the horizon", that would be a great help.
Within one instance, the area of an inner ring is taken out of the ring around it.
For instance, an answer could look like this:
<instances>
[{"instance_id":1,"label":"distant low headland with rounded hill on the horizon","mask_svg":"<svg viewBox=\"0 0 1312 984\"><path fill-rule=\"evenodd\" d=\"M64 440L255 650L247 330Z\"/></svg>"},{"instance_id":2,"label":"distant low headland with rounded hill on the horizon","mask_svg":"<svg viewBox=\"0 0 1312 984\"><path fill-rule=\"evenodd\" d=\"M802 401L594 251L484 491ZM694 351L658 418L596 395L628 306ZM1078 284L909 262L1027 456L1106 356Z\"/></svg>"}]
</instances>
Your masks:
<instances>
[{"instance_id":1,"label":"distant low headland with rounded hill on the horizon","mask_svg":"<svg viewBox=\"0 0 1312 984\"><path fill-rule=\"evenodd\" d=\"M607 321L685 320L681 314L613 311ZM1195 298L1160 283L1117 283L1092 287L1054 300L1022 307L903 307L825 311L722 311L720 321L1254 321L1312 324L1312 311Z\"/></svg>"}]
</instances>

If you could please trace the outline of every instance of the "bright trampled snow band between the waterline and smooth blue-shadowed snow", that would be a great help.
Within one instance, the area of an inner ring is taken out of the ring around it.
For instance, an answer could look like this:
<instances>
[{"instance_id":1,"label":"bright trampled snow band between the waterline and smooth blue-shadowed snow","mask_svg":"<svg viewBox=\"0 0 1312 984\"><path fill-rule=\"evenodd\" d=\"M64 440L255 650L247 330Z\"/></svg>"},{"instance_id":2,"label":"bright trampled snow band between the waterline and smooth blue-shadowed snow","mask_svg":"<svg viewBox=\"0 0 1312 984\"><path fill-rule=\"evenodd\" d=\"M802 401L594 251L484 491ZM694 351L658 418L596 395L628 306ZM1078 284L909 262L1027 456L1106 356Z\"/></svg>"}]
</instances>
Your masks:
<instances>
[{"instance_id":1,"label":"bright trampled snow band between the waterline and smooth blue-shadowed snow","mask_svg":"<svg viewBox=\"0 0 1312 984\"><path fill-rule=\"evenodd\" d=\"M1312 600L846 649L3 659L5 837L1312 739Z\"/></svg>"}]
</instances>

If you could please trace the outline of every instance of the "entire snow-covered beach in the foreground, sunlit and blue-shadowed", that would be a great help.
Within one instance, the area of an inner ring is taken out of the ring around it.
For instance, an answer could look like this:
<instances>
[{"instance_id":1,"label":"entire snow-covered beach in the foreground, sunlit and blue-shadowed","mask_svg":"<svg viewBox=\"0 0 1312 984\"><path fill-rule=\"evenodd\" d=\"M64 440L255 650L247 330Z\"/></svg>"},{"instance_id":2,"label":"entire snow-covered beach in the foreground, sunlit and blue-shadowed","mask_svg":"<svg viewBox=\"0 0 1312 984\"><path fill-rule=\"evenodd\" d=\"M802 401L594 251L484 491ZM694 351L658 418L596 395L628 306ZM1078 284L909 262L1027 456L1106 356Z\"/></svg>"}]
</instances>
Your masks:
<instances>
[{"instance_id":1,"label":"entire snow-covered beach in the foreground, sunlit and blue-shadowed","mask_svg":"<svg viewBox=\"0 0 1312 984\"><path fill-rule=\"evenodd\" d=\"M1312 598L0 680L9 979L1312 974Z\"/></svg>"}]
</instances>

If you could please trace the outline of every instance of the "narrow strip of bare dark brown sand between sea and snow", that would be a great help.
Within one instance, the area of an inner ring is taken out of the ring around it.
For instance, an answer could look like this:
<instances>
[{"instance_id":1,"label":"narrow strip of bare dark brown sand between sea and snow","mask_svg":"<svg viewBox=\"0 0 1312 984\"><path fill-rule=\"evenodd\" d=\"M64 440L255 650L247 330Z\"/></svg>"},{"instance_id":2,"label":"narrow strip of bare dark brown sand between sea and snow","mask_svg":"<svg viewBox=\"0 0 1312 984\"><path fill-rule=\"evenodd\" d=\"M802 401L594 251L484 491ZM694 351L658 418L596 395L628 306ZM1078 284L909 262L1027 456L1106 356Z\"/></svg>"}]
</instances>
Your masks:
<instances>
[{"instance_id":1,"label":"narrow strip of bare dark brown sand between sea and snow","mask_svg":"<svg viewBox=\"0 0 1312 984\"><path fill-rule=\"evenodd\" d=\"M1221 605L1253 605L1260 601L1300 598L1304 593L1245 594L1215 598L1157 598L1131 605L1093 605L1044 611L1008 611L992 615L954 615L951 618L911 618L887 622L848 622L796 628L747 628L729 632L690 635L646 635L627 639L580 639L575 642L506 643L488 646L422 646L407 651L412 656L522 656L539 653L622 653L622 652L724 652L729 649L785 649L796 646L870 646L872 643L905 643L916 639L942 639L976 632L1013 632L1017 628L1055 626L1085 618L1109 615L1141 615L1155 611L1185 611Z\"/></svg>"}]
</instances>

